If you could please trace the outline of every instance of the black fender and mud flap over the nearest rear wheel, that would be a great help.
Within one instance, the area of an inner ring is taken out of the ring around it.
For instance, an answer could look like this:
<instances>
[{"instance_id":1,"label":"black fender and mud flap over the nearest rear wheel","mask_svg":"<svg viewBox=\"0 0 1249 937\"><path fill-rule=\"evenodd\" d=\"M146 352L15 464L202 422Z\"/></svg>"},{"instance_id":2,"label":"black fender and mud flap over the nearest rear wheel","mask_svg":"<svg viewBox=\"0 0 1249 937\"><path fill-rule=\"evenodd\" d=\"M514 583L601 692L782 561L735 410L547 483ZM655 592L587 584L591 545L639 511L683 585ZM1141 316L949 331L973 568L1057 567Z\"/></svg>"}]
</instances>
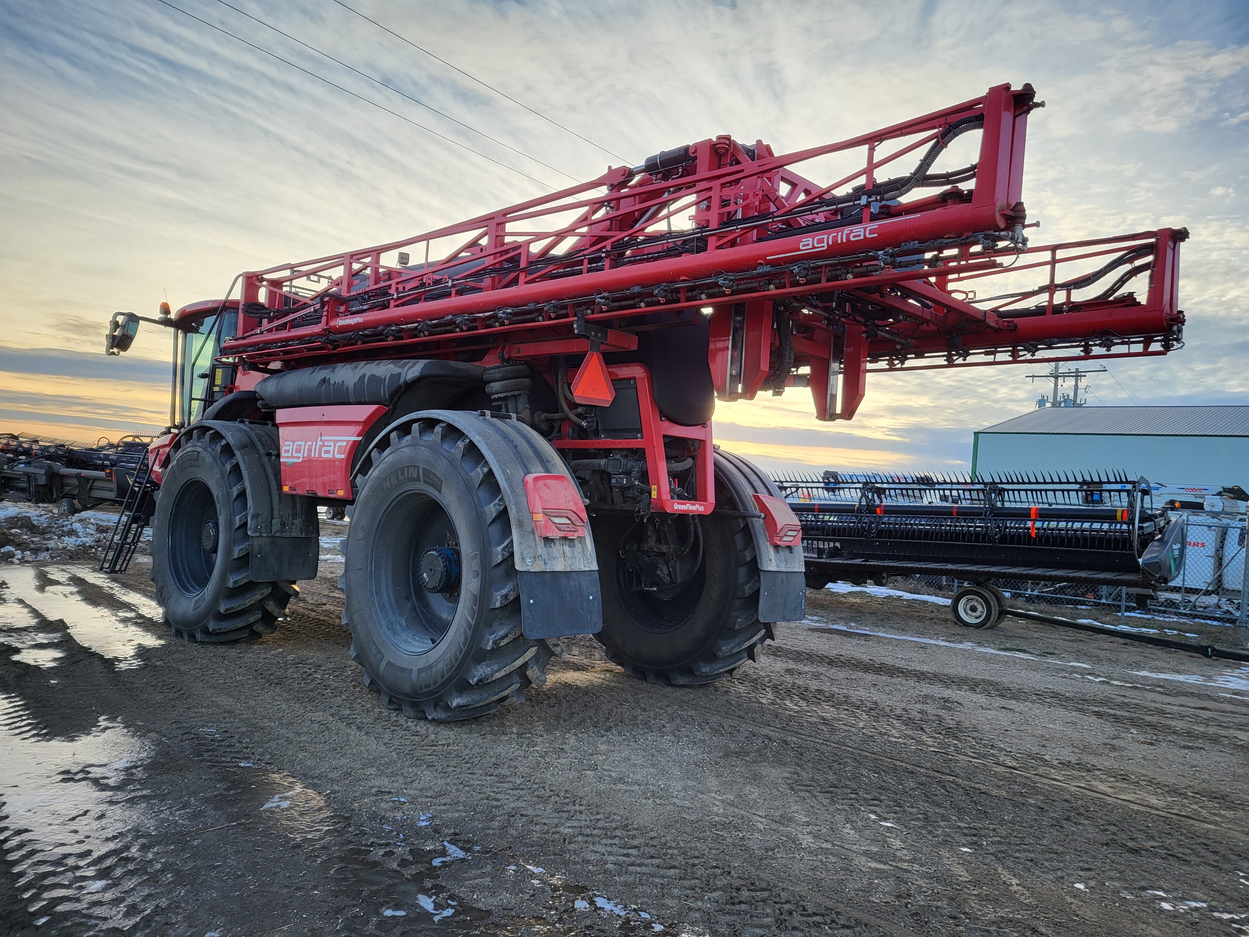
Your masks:
<instances>
[{"instance_id":1,"label":"black fender and mud flap over the nearest rear wheel","mask_svg":"<svg viewBox=\"0 0 1249 937\"><path fill-rule=\"evenodd\" d=\"M486 456L498 480L512 522L512 561L521 587L525 636L563 637L598 632L603 626L603 605L590 527L586 526L581 537L538 536L525 491L526 476L553 473L567 477L581 495L581 487L560 454L518 420L463 410L422 410L400 417L377 434L358 465L368 465L377 440L385 440L391 432L421 420L438 420L465 434ZM358 476L353 481L358 491Z\"/></svg>"}]
</instances>

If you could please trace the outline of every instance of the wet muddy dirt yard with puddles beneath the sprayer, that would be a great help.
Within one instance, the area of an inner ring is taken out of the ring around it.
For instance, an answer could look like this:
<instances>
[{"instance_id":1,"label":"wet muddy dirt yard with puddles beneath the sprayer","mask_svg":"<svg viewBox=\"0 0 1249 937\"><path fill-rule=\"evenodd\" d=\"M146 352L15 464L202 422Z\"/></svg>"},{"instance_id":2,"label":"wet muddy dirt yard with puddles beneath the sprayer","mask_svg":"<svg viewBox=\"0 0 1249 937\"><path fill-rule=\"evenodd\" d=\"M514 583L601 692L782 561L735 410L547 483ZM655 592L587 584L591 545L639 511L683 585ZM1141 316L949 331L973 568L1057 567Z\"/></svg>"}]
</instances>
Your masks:
<instances>
[{"instance_id":1,"label":"wet muddy dirt yard with puddles beneath the sprayer","mask_svg":"<svg viewBox=\"0 0 1249 937\"><path fill-rule=\"evenodd\" d=\"M571 638L440 725L332 561L230 646L149 568L0 567L2 935L1249 933L1249 667L822 591L713 686Z\"/></svg>"}]
</instances>

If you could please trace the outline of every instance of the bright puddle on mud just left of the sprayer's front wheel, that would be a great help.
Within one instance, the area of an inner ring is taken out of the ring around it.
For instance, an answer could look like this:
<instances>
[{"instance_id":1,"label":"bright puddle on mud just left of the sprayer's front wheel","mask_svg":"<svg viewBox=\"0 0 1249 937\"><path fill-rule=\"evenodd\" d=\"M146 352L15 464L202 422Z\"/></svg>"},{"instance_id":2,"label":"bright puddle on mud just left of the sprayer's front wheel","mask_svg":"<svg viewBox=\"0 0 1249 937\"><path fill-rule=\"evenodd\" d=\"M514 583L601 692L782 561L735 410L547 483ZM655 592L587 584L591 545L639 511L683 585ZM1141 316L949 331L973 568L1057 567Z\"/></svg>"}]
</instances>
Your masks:
<instances>
[{"instance_id":1,"label":"bright puddle on mud just left of the sprayer's front wheel","mask_svg":"<svg viewBox=\"0 0 1249 937\"><path fill-rule=\"evenodd\" d=\"M107 657L117 670L140 666L139 651L165 641L151 632L151 627L160 622L156 603L117 583L107 582L101 588L127 607L94 605L74 585L75 578L100 585L89 573L85 568L64 566L2 568L0 581L7 585L5 605L20 602L45 621L64 621L77 643Z\"/></svg>"}]
</instances>

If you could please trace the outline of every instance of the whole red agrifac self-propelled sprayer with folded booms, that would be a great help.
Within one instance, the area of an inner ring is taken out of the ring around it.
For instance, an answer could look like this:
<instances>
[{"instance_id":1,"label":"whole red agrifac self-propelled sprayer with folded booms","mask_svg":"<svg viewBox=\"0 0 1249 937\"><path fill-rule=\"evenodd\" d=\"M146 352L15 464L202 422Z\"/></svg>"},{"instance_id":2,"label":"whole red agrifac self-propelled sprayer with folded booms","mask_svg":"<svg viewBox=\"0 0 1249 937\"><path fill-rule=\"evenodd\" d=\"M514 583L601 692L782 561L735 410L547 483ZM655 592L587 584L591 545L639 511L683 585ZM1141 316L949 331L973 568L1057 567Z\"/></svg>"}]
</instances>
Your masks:
<instances>
[{"instance_id":1,"label":"whole red agrifac self-propelled sprayer with folded booms","mask_svg":"<svg viewBox=\"0 0 1249 937\"><path fill-rule=\"evenodd\" d=\"M702 140L157 320L179 336L152 449L175 632L272 631L316 573L316 507L350 503L352 657L411 715L520 701L567 635L652 681L731 673L802 618L804 566L781 492L714 447L717 399L809 387L848 420L872 371L1180 341L1185 232L1028 245L1034 97L788 155ZM979 157L939 169L972 134ZM119 347L137 321L115 316Z\"/></svg>"}]
</instances>

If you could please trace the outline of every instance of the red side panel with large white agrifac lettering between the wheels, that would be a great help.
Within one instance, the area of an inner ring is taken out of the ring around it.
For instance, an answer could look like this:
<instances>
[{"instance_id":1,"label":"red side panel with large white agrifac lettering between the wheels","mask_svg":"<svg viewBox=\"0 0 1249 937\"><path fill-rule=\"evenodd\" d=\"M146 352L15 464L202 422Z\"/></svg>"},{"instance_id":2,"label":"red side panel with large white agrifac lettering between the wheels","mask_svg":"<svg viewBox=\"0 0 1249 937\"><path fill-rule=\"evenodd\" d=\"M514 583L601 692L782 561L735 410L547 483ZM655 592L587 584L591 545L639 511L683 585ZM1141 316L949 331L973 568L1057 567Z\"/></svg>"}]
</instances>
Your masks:
<instances>
[{"instance_id":1,"label":"red side panel with large white agrifac lettering between the wheels","mask_svg":"<svg viewBox=\"0 0 1249 937\"><path fill-rule=\"evenodd\" d=\"M351 464L383 406L291 407L277 411L282 491L350 501Z\"/></svg>"}]
</instances>

